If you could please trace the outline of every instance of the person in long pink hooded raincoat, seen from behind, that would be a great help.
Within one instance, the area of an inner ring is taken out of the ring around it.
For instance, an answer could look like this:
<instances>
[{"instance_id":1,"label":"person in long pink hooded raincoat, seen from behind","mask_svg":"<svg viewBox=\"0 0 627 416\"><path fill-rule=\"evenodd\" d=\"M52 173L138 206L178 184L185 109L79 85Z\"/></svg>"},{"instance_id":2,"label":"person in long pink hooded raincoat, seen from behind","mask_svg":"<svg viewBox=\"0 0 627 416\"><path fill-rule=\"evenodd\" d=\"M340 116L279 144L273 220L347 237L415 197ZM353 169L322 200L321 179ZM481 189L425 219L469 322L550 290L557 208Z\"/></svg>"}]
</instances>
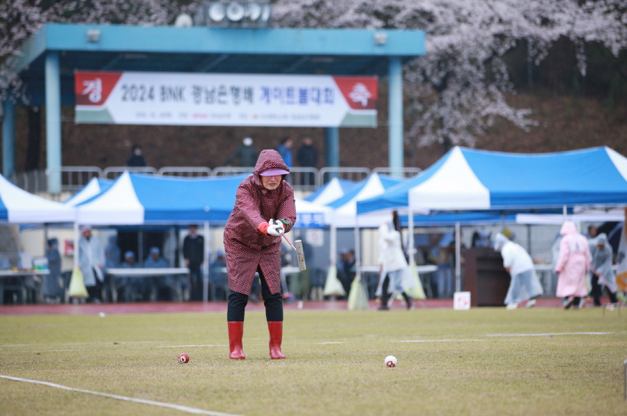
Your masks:
<instances>
[{"instance_id":1,"label":"person in long pink hooded raincoat, seen from behind","mask_svg":"<svg viewBox=\"0 0 627 416\"><path fill-rule=\"evenodd\" d=\"M586 273L590 268L590 249L588 239L577 231L573 221L562 225L562 241L559 243L559 256L555 264L557 278L557 296L568 298L564 307L579 307L580 300L587 296Z\"/></svg>"}]
</instances>

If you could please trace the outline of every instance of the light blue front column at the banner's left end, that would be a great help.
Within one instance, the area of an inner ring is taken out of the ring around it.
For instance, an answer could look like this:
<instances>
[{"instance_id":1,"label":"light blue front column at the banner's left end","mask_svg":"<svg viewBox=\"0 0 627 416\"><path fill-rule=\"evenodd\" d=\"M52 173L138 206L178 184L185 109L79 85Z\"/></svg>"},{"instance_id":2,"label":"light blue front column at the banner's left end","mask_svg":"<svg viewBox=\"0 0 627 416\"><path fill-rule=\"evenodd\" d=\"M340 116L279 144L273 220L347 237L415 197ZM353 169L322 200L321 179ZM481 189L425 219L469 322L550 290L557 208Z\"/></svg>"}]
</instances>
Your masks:
<instances>
[{"instance_id":1,"label":"light blue front column at the banner's left end","mask_svg":"<svg viewBox=\"0 0 627 416\"><path fill-rule=\"evenodd\" d=\"M47 168L61 168L61 72L59 51L46 55L46 155ZM61 193L61 172L48 176L49 193Z\"/></svg>"}]
</instances>

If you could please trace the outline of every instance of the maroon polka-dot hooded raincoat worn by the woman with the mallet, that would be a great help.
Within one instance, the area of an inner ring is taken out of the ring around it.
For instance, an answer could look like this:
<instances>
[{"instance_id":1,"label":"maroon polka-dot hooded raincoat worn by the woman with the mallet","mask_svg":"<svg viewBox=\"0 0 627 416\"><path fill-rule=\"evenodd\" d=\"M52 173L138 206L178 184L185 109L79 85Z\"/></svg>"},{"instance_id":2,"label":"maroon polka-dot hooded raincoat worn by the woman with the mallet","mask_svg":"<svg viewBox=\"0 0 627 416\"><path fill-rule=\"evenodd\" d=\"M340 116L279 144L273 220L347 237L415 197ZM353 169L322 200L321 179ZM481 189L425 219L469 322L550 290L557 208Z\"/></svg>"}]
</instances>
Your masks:
<instances>
[{"instance_id":1,"label":"maroon polka-dot hooded raincoat worn by the woman with the mallet","mask_svg":"<svg viewBox=\"0 0 627 416\"><path fill-rule=\"evenodd\" d=\"M229 288L241 294L249 294L257 271L261 271L272 294L281 290L281 239L257 230L270 218L286 220L285 231L291 230L296 221L294 190L288 182L281 181L277 189L268 191L261 184L259 173L270 168L289 171L276 150L263 150L259 154L254 174L238 186L235 207L224 228L224 251Z\"/></svg>"}]
</instances>

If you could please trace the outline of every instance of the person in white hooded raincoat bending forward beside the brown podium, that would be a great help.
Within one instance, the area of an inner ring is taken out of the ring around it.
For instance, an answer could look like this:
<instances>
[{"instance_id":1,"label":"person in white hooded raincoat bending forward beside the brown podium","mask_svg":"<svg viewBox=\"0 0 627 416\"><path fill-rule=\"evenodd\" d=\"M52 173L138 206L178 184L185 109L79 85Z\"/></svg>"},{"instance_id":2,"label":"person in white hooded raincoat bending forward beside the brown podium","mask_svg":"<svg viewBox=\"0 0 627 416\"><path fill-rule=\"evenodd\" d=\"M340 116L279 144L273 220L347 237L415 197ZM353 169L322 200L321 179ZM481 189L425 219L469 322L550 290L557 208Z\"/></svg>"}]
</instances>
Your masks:
<instances>
[{"instance_id":1,"label":"person in white hooded raincoat bending forward beside the brown podium","mask_svg":"<svg viewBox=\"0 0 627 416\"><path fill-rule=\"evenodd\" d=\"M503 266L511 275L504 301L505 307L516 309L518 303L524 301L527 301L526 307L536 305L536 298L542 294L542 285L529 253L520 244L514 243L500 232L494 237L494 249L501 253Z\"/></svg>"}]
</instances>

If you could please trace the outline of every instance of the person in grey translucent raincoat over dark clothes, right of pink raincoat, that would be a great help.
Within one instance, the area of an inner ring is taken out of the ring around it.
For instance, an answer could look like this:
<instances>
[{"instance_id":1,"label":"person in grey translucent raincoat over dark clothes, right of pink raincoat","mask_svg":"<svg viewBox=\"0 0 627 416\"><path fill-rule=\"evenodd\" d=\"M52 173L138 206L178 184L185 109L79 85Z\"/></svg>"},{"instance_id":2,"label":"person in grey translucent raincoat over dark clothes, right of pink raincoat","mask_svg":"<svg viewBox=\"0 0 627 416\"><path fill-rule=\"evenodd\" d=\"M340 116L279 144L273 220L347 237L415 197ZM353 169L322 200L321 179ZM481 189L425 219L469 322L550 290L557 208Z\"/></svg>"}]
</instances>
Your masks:
<instances>
[{"instance_id":1,"label":"person in grey translucent raincoat over dark clothes, right of pink raincoat","mask_svg":"<svg viewBox=\"0 0 627 416\"><path fill-rule=\"evenodd\" d=\"M590 247L590 270L592 272L591 295L594 298L594 306L601 306L601 293L605 286L610 296L611 303L617 303L616 297L616 274L612 268L612 258L614 253L612 246L607 243L607 234L602 232L593 239L593 246Z\"/></svg>"}]
</instances>

